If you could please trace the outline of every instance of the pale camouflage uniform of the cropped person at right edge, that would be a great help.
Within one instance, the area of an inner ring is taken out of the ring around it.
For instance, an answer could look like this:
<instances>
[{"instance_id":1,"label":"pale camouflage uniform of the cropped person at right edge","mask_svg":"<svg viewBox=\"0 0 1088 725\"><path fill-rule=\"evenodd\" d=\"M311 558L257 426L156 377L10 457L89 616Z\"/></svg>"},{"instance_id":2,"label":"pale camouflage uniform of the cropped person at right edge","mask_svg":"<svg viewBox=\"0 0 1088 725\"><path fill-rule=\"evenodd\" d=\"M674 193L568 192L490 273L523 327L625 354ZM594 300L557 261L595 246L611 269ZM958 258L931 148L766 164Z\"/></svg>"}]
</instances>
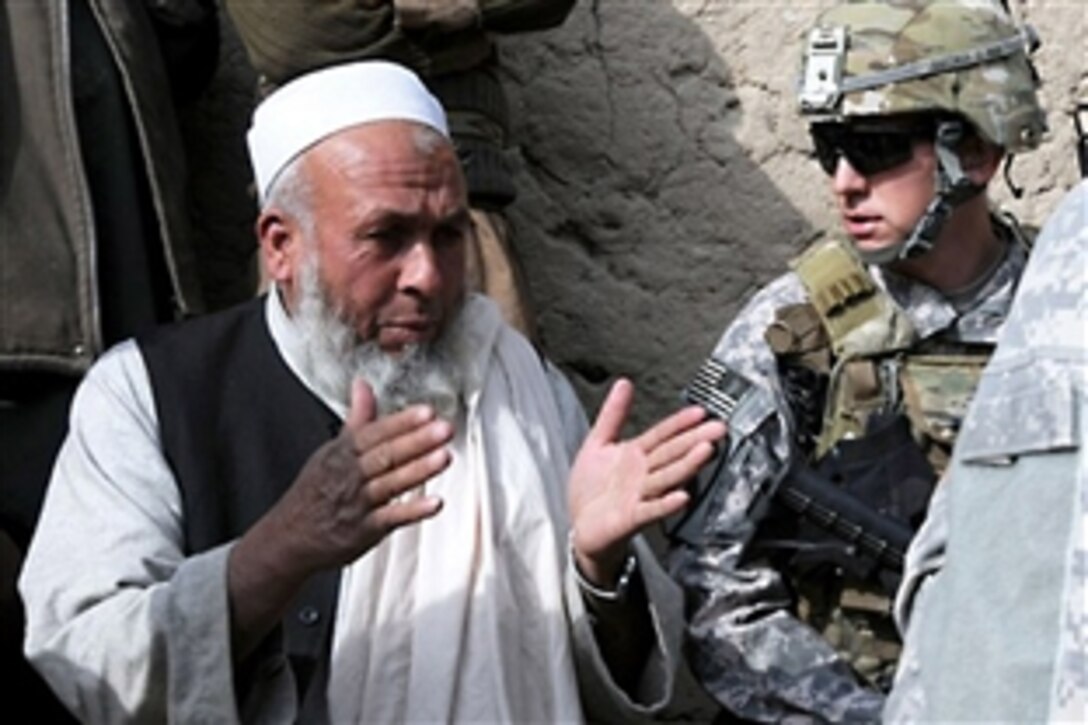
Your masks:
<instances>
[{"instance_id":1,"label":"pale camouflage uniform of the cropped person at right edge","mask_svg":"<svg viewBox=\"0 0 1088 725\"><path fill-rule=\"evenodd\" d=\"M890 722L1088 720L1086 269L1083 182L1039 237L912 544Z\"/></svg>"}]
</instances>

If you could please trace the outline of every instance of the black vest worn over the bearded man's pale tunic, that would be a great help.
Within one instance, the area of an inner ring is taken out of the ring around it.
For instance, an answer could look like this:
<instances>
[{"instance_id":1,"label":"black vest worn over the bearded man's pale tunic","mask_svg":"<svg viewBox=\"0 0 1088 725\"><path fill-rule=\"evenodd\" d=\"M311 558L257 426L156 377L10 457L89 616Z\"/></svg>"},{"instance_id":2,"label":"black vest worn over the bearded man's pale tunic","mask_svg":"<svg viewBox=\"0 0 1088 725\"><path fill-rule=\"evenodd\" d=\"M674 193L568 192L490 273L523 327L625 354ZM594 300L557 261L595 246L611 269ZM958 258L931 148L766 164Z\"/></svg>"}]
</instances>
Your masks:
<instances>
[{"instance_id":1,"label":"black vest worn over the bearded man's pale tunic","mask_svg":"<svg viewBox=\"0 0 1088 725\"><path fill-rule=\"evenodd\" d=\"M166 463L181 490L186 555L240 537L290 487L339 419L287 368L264 298L156 330L139 340ZM286 642L301 720L324 706L324 665L339 573L313 577L251 658ZM314 676L317 673L317 676ZM236 673L244 699L250 673Z\"/></svg>"}]
</instances>

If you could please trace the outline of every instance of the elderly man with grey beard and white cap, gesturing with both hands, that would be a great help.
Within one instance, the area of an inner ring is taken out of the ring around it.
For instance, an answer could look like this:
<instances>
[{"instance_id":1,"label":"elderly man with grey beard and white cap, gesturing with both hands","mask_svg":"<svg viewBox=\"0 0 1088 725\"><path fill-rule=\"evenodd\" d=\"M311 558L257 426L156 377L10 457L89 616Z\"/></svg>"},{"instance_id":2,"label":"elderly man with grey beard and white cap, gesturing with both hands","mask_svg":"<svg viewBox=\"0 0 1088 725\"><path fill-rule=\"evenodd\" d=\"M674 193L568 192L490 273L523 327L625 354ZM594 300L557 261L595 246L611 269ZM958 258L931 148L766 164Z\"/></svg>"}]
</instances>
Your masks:
<instances>
[{"instance_id":1,"label":"elderly man with grey beard and white cap, gesturing with both hands","mask_svg":"<svg viewBox=\"0 0 1088 725\"><path fill-rule=\"evenodd\" d=\"M88 721L662 706L678 598L632 537L724 427L618 442L621 382L574 458L569 386L463 293L465 181L405 69L302 76L249 145L273 292L91 370L21 580L32 661Z\"/></svg>"}]
</instances>

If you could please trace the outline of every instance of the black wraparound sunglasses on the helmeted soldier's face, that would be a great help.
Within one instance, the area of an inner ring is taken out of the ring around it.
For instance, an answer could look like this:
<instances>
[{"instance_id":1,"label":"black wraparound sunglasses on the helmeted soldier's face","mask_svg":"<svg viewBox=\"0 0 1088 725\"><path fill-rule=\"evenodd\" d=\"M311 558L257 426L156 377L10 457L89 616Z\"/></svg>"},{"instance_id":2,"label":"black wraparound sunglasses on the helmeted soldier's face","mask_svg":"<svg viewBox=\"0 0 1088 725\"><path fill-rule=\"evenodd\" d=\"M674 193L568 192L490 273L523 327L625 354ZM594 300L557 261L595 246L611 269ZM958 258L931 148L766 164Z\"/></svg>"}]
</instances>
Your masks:
<instances>
[{"instance_id":1,"label":"black wraparound sunglasses on the helmeted soldier's face","mask_svg":"<svg viewBox=\"0 0 1088 725\"><path fill-rule=\"evenodd\" d=\"M833 175L839 158L863 176L871 176L906 163L917 140L932 139L932 124L861 126L816 123L809 128L820 169Z\"/></svg>"}]
</instances>

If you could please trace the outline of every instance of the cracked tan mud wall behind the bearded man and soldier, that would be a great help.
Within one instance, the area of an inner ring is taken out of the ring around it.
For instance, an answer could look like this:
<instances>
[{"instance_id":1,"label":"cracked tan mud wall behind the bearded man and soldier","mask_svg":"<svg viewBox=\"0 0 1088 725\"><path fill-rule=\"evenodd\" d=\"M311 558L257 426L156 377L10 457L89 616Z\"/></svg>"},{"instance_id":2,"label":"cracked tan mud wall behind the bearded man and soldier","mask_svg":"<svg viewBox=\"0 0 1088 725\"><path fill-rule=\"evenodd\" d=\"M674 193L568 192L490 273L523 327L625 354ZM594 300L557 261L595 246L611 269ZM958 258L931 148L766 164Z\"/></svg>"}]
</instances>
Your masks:
<instances>
[{"instance_id":1,"label":"cracked tan mud wall behind the bearded man and soldier","mask_svg":"<svg viewBox=\"0 0 1088 725\"><path fill-rule=\"evenodd\" d=\"M801 38L833 0L581 0L561 27L500 45L516 122L515 246L542 343L592 411L638 386L632 422L679 392L740 306L833 234L793 88ZM1088 0L1011 0L1038 29L1050 137L1018 158L1036 224L1077 177L1075 99L1088 99ZM224 22L220 72L184 127L214 305L254 288L243 134L254 74Z\"/></svg>"}]
</instances>

